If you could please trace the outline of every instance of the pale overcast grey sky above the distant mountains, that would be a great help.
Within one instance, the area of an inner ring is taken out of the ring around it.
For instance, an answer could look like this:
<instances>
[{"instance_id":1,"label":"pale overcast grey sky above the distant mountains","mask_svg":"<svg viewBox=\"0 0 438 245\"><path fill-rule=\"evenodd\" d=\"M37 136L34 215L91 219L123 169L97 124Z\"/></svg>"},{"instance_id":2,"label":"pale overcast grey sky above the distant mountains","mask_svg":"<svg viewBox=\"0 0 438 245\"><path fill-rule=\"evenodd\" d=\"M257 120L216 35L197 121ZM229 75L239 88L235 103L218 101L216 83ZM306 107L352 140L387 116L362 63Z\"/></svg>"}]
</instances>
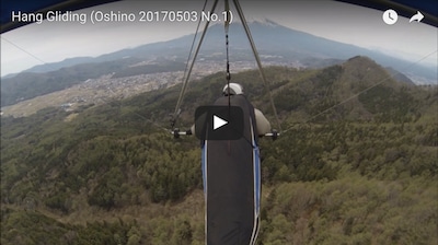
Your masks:
<instances>
[{"instance_id":1,"label":"pale overcast grey sky above the distant mountains","mask_svg":"<svg viewBox=\"0 0 438 245\"><path fill-rule=\"evenodd\" d=\"M211 2L204 13L211 9ZM246 21L270 20L315 36L437 67L438 30L427 24L410 23L408 19L399 16L395 24L388 25L382 20L383 11L336 1L241 0L240 4ZM72 57L95 57L192 34L197 25L195 20L203 15L203 5L200 0L120 1L72 12L68 20L43 21L15 28L1 34L1 77L37 65ZM220 1L216 10L220 19L223 10ZM186 11L189 20L170 21L176 11ZM165 12L171 14L163 21ZM232 21L239 21L233 5L231 12ZM85 19L72 20L74 14ZM100 21L104 14L113 18ZM117 20L123 14L129 14L131 20ZM24 20L23 15L20 18ZM223 20L212 23L223 24Z\"/></svg>"}]
</instances>

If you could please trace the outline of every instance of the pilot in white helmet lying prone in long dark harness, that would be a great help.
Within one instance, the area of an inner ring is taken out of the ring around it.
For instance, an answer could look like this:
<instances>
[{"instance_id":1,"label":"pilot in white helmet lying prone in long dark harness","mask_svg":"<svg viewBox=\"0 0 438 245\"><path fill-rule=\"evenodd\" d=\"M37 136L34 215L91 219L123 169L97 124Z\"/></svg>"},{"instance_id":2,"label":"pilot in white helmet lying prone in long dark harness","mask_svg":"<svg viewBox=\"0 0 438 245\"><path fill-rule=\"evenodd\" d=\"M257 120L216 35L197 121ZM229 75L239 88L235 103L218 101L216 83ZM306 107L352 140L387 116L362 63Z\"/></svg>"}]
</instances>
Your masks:
<instances>
[{"instance_id":1,"label":"pilot in white helmet lying prone in long dark harness","mask_svg":"<svg viewBox=\"0 0 438 245\"><path fill-rule=\"evenodd\" d=\"M222 95L214 105L242 108L243 131L237 140L201 140L206 243L255 244L262 188L258 138L270 132L270 124L247 101L241 84L224 85ZM199 127L205 117L197 120Z\"/></svg>"}]
</instances>

